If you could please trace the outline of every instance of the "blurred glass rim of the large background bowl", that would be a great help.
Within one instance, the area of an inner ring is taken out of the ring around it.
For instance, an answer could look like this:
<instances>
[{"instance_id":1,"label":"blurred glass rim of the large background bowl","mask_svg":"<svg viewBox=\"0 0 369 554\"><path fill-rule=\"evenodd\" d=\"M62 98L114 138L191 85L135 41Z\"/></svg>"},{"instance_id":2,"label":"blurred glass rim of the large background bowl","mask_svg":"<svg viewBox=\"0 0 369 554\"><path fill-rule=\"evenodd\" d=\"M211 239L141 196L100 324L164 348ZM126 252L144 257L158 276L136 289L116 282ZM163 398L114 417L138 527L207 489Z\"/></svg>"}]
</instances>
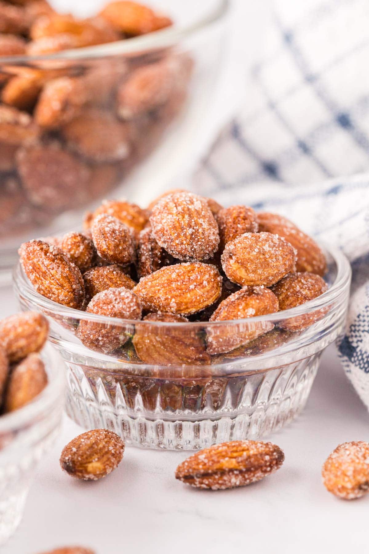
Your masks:
<instances>
[{"instance_id":1,"label":"blurred glass rim of the large background bowl","mask_svg":"<svg viewBox=\"0 0 369 554\"><path fill-rule=\"evenodd\" d=\"M138 37L84 48L61 50L61 52L53 54L4 56L0 57L0 63L28 64L33 61L93 59L116 54L142 54L145 51L148 52L153 49L167 48L170 45L178 43L180 40L201 32L202 29L211 27L214 23L218 23L225 18L230 6L231 0L216 0L215 6L209 8L204 15L193 22L183 25L183 27L180 25L177 27L174 24L172 27L166 27L152 33L139 35Z\"/></svg>"}]
</instances>

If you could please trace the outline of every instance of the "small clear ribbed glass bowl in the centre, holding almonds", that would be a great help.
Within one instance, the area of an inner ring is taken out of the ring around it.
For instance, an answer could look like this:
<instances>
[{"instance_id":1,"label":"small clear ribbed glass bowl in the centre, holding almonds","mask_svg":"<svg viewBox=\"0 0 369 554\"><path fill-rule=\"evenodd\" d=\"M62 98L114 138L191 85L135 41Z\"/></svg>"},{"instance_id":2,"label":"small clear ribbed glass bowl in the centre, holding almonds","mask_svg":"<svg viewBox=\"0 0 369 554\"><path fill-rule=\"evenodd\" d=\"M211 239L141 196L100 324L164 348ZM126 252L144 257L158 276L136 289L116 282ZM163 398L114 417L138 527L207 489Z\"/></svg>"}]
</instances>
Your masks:
<instances>
[{"instance_id":1,"label":"small clear ribbed glass bowl in the centre, holding almonds","mask_svg":"<svg viewBox=\"0 0 369 554\"><path fill-rule=\"evenodd\" d=\"M19 264L14 287L23 310L50 318L50 340L67 367L66 409L76 423L112 429L136 446L197 449L262 437L302 411L321 352L342 332L349 299L349 262L338 250L326 257L326 293L290 310L237 321L87 314L36 293ZM93 351L80 342L81 330L95 337ZM107 336L117 346L108 354ZM152 363L137 356L140 337ZM219 349L211 356L209 337ZM234 349L222 352L229 342Z\"/></svg>"}]
</instances>

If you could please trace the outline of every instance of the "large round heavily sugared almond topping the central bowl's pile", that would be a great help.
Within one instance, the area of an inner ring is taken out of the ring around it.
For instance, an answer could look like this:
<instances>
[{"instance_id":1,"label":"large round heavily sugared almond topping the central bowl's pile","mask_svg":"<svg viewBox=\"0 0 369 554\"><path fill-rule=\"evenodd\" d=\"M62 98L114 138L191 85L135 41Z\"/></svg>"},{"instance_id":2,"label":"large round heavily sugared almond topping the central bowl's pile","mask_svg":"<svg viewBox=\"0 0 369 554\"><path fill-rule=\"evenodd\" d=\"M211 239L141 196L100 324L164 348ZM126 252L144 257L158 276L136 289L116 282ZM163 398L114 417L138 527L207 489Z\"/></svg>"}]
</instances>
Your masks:
<instances>
[{"instance_id":1,"label":"large round heavily sugared almond topping the central bowl's pile","mask_svg":"<svg viewBox=\"0 0 369 554\"><path fill-rule=\"evenodd\" d=\"M153 207L150 224L158 244L179 260L206 260L219 246L218 225L206 199L197 194L165 196Z\"/></svg>"}]
</instances>

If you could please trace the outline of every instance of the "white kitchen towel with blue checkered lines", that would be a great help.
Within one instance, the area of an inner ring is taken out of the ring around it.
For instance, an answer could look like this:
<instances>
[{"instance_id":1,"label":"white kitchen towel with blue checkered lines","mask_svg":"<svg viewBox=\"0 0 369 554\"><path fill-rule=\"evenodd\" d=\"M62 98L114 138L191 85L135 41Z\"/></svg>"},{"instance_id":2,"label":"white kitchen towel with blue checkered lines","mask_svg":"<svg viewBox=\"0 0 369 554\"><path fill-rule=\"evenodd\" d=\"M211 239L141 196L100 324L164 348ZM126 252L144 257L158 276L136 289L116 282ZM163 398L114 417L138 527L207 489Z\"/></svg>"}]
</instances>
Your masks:
<instances>
[{"instance_id":1,"label":"white kitchen towel with blue checkered lines","mask_svg":"<svg viewBox=\"0 0 369 554\"><path fill-rule=\"evenodd\" d=\"M244 105L195 187L344 250L353 281L339 353L369 407L369 2L274 0L273 16Z\"/></svg>"}]
</instances>

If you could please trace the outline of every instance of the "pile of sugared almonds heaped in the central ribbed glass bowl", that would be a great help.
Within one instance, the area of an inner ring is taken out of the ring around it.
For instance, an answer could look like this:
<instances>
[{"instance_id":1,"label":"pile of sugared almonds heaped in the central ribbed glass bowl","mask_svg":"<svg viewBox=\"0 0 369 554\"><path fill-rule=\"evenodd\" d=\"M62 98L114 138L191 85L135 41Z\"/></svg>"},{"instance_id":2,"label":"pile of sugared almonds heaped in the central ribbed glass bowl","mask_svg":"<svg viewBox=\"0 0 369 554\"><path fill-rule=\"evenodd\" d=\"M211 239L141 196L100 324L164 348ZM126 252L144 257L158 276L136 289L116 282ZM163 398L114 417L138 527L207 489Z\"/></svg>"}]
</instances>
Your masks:
<instances>
[{"instance_id":1,"label":"pile of sugared almonds heaped in the central ribbed glass bowl","mask_svg":"<svg viewBox=\"0 0 369 554\"><path fill-rule=\"evenodd\" d=\"M122 355L124 345L132 345L144 363L206 365L240 347L244 355L258 341L262 348L276 346L279 334L300 332L325 314L290 317L274 329L269 321L250 319L327 290L318 244L276 214L223 208L176 190L145 209L105 201L87 214L84 227L83 233L24 243L19 254L41 295L87 314L129 320L82 318L76 333L92 350ZM188 321L204 327L173 325Z\"/></svg>"}]
</instances>

